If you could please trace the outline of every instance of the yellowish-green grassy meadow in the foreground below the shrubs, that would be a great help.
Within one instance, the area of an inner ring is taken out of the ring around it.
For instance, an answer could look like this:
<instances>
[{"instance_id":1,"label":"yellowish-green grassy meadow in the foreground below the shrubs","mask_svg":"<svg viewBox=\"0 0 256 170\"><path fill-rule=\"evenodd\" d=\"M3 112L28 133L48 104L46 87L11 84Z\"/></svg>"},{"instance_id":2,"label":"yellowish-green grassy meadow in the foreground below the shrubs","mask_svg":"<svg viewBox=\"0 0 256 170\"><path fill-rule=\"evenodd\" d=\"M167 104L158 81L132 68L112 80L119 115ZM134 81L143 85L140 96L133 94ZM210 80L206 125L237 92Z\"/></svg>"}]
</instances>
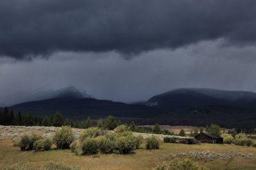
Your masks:
<instances>
[{"instance_id":1,"label":"yellowish-green grassy meadow in the foreground below the shrubs","mask_svg":"<svg viewBox=\"0 0 256 170\"><path fill-rule=\"evenodd\" d=\"M11 140L0 141L0 167L5 164L26 162L31 168L39 168L49 161L64 162L81 169L152 169L157 164L173 160L170 153L188 153L189 151L214 151L216 153L252 153L253 158L234 157L230 160L215 158L214 160L195 160L198 164L210 169L256 169L256 148L236 146L234 144L172 144L162 143L159 150L145 150L145 144L129 155L97 154L77 156L70 150L20 151ZM182 159L179 157L179 159Z\"/></svg>"}]
</instances>

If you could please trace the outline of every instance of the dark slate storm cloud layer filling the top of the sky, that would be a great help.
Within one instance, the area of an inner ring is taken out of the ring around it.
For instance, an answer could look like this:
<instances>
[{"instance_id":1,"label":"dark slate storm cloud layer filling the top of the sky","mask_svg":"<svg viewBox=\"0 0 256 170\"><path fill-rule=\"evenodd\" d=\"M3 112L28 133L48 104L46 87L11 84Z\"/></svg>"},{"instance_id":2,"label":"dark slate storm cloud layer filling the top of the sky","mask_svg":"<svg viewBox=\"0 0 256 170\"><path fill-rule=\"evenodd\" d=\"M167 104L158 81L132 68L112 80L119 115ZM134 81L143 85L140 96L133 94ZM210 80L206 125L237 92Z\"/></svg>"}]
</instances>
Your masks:
<instances>
[{"instance_id":1,"label":"dark slate storm cloud layer filling the top of the sky","mask_svg":"<svg viewBox=\"0 0 256 170\"><path fill-rule=\"evenodd\" d=\"M225 38L256 41L255 0L2 0L0 56L124 54Z\"/></svg>"}]
</instances>

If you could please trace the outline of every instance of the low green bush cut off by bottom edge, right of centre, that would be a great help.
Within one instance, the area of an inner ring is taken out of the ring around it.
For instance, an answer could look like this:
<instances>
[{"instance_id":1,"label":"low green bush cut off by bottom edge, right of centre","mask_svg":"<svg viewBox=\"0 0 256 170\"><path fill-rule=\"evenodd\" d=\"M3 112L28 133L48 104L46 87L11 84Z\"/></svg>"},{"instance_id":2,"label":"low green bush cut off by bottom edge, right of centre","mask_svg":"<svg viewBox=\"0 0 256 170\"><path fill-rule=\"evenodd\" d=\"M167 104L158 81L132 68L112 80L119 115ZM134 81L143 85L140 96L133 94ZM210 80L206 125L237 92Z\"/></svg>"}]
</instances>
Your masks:
<instances>
[{"instance_id":1,"label":"low green bush cut off by bottom edge, right of centre","mask_svg":"<svg viewBox=\"0 0 256 170\"><path fill-rule=\"evenodd\" d=\"M168 164L159 164L154 170L207 170L206 167L199 166L192 160L186 158L185 160L173 160Z\"/></svg>"}]
</instances>

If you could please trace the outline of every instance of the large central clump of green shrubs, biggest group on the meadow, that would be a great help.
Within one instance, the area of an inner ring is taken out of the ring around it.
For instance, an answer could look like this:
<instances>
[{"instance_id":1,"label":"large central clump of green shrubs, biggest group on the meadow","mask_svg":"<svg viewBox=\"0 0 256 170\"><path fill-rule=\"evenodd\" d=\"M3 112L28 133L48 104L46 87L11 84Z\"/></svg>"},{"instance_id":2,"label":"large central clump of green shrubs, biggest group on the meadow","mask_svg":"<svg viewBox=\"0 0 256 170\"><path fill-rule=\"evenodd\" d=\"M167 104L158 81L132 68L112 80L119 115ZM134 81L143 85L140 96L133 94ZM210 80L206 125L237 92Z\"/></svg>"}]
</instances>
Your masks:
<instances>
[{"instance_id":1,"label":"large central clump of green shrubs, biggest group on the meadow","mask_svg":"<svg viewBox=\"0 0 256 170\"><path fill-rule=\"evenodd\" d=\"M139 148L143 142L143 137L134 136L129 128L125 125L116 127L114 133L109 133L104 136L99 136L99 128L88 128L81 132L79 143L70 144L72 151L81 155L93 155L100 153L113 153L115 150L120 154L131 153L132 150Z\"/></svg>"}]
</instances>

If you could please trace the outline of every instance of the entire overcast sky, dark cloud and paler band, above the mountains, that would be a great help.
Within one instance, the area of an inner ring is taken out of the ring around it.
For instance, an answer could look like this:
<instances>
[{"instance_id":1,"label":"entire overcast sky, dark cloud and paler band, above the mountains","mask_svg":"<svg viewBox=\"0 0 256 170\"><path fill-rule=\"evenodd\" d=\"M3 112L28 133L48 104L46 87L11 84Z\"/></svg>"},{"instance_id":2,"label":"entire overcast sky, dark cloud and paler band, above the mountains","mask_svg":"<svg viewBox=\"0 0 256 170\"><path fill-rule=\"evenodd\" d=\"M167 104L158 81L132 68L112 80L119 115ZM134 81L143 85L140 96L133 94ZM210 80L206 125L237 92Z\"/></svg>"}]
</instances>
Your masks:
<instances>
[{"instance_id":1,"label":"entire overcast sky, dark cloud and paler band, above the mountains","mask_svg":"<svg viewBox=\"0 0 256 170\"><path fill-rule=\"evenodd\" d=\"M0 106L70 84L121 102L256 91L255 16L255 0L0 1Z\"/></svg>"}]
</instances>

